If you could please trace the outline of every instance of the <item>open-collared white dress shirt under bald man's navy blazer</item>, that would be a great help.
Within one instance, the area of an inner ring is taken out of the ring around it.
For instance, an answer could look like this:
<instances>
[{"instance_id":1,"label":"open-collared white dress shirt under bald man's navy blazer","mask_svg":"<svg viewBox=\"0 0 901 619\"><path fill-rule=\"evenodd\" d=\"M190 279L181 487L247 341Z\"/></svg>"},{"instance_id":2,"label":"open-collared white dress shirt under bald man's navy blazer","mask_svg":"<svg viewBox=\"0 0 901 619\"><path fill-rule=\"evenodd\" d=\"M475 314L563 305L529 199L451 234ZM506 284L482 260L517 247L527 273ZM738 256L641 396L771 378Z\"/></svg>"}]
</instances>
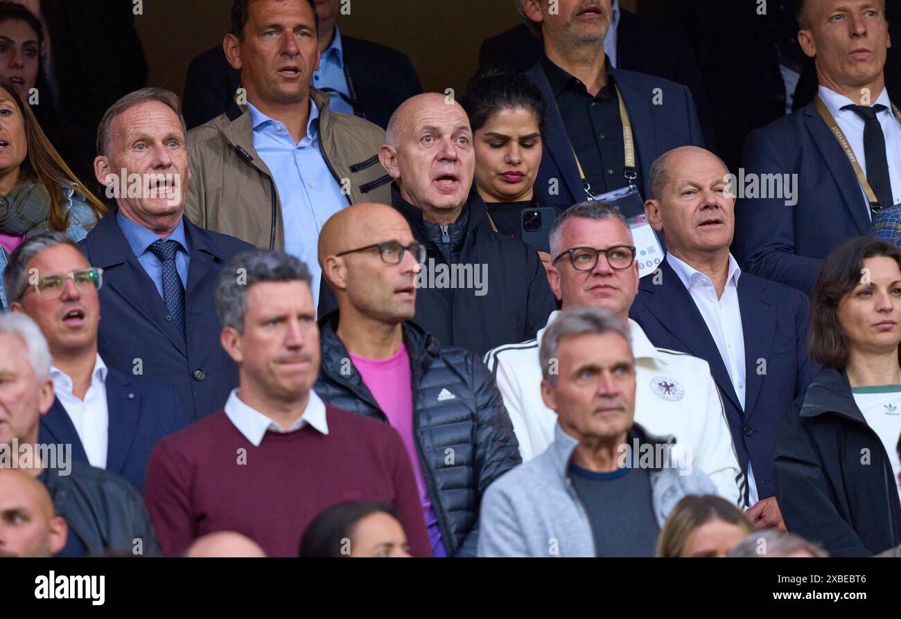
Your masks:
<instances>
[{"instance_id":1,"label":"open-collared white dress shirt under bald man's navy blazer","mask_svg":"<svg viewBox=\"0 0 901 619\"><path fill-rule=\"evenodd\" d=\"M687 265L672 254L667 254L669 266L678 275L682 285L691 295L697 310L707 325L707 330L714 338L716 348L729 372L729 381L732 382L738 403L744 410L744 395L747 387L746 361L744 358L744 331L742 331L742 308L738 302L738 279L742 275L742 269L735 262L732 254L729 254L729 272L726 275L726 285L723 296L716 298L714 283L705 274L695 267ZM748 507L758 501L757 483L754 480L754 471L751 471L751 461L748 461Z\"/></svg>"}]
</instances>

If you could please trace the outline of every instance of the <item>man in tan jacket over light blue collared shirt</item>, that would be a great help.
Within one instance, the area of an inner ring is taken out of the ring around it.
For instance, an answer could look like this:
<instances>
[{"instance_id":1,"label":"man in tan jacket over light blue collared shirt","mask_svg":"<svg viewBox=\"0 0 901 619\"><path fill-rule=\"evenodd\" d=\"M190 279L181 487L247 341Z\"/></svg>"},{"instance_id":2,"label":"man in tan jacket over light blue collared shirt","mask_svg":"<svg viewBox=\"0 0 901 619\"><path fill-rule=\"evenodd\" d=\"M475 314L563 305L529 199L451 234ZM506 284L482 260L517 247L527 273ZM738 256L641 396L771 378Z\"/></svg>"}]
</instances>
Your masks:
<instances>
[{"instance_id":1,"label":"man in tan jacket over light blue collared shirt","mask_svg":"<svg viewBox=\"0 0 901 619\"><path fill-rule=\"evenodd\" d=\"M388 202L378 163L385 132L332 112L312 88L319 67L313 0L234 0L223 48L241 88L223 115L188 134L188 217L202 228L299 257L321 272L316 248L329 217L355 202Z\"/></svg>"}]
</instances>

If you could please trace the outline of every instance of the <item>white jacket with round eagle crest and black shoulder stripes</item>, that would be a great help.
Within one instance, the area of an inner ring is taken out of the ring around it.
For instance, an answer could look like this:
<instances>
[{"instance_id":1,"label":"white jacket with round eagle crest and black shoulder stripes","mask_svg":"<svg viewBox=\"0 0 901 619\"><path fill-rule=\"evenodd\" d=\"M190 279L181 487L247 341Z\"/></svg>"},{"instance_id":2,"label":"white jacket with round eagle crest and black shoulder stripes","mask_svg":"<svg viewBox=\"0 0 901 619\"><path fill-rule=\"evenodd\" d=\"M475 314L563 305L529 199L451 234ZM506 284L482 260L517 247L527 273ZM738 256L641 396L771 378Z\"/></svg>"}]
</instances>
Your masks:
<instances>
[{"instance_id":1,"label":"white jacket with round eagle crest and black shoulder stripes","mask_svg":"<svg viewBox=\"0 0 901 619\"><path fill-rule=\"evenodd\" d=\"M538 351L542 336L560 315L555 311L535 339L502 345L485 355L514 433L523 462L544 452L554 440L557 413L542 399ZM657 348L642 327L629 320L635 357L635 421L653 435L675 436L691 455L691 464L714 482L720 496L742 506L744 483L720 399L703 359Z\"/></svg>"}]
</instances>

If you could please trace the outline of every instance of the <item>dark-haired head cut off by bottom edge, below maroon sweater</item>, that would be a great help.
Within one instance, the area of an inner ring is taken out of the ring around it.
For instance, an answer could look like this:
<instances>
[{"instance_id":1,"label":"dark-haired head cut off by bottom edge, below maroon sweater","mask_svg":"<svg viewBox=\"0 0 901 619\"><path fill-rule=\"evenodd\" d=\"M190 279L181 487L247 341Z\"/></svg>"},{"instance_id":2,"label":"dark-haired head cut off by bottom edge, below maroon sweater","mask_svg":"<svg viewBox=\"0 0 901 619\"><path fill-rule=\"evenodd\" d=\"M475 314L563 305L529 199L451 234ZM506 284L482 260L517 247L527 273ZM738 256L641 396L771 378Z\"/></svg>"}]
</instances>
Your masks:
<instances>
[{"instance_id":1,"label":"dark-haired head cut off by bottom edge, below maroon sweater","mask_svg":"<svg viewBox=\"0 0 901 619\"><path fill-rule=\"evenodd\" d=\"M350 501L329 507L306 527L301 557L409 557L410 544L394 507Z\"/></svg>"}]
</instances>

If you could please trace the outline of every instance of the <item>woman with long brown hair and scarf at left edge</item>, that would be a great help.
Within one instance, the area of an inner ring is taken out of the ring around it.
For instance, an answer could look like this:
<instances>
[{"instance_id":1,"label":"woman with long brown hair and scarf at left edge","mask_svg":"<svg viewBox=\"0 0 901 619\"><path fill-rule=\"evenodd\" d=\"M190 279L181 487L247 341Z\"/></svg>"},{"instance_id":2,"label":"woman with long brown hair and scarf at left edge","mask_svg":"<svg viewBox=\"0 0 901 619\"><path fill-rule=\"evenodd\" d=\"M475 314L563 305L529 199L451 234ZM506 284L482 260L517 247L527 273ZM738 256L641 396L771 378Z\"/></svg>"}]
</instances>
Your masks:
<instances>
[{"instance_id":1,"label":"woman with long brown hair and scarf at left edge","mask_svg":"<svg viewBox=\"0 0 901 619\"><path fill-rule=\"evenodd\" d=\"M65 230L78 241L105 212L59 157L22 94L0 77L0 274L27 236ZM6 307L2 282L0 304Z\"/></svg>"}]
</instances>

